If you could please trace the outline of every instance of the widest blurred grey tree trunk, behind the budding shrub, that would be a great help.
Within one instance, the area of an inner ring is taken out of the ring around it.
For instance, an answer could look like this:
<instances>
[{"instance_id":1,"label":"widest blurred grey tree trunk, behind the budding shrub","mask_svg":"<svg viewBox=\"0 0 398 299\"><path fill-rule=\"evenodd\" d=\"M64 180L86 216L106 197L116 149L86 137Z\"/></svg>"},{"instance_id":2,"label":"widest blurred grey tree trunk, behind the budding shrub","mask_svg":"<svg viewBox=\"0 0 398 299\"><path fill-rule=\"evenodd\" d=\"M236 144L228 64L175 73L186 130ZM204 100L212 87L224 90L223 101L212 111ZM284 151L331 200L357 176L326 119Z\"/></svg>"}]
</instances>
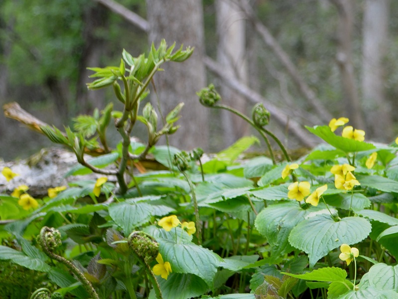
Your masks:
<instances>
[{"instance_id":1,"label":"widest blurred grey tree trunk, behind the budding shrub","mask_svg":"<svg viewBox=\"0 0 398 299\"><path fill-rule=\"evenodd\" d=\"M205 87L203 7L200 0L147 0L149 42L158 46L161 39L168 45L194 46L190 59L183 63L171 62L162 65L164 72L157 73L154 83L157 95L152 95L161 104L164 116L184 102L185 107L179 122L182 126L170 138L170 144L181 149L207 148L208 111L199 103L198 92Z\"/></svg>"}]
</instances>

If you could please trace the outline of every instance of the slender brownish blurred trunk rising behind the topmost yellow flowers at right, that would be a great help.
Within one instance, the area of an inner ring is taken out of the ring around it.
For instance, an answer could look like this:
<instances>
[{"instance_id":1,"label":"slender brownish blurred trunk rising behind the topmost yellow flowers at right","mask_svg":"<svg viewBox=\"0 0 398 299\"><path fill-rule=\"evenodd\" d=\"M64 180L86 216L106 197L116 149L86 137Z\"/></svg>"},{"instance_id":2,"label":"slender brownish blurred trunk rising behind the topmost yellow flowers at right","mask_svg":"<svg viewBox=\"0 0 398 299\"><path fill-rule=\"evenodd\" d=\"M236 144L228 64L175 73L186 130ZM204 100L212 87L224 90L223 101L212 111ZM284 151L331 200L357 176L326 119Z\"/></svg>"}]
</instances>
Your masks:
<instances>
[{"instance_id":1,"label":"slender brownish blurred trunk rising behind the topmost yellow flowers at right","mask_svg":"<svg viewBox=\"0 0 398 299\"><path fill-rule=\"evenodd\" d=\"M345 115L350 119L350 125L357 129L366 129L362 116L361 104L355 82L352 65L352 41L354 29L354 0L331 0L336 5L339 26L337 32L336 61L340 69L343 88ZM339 117L339 116L336 116Z\"/></svg>"}]
</instances>

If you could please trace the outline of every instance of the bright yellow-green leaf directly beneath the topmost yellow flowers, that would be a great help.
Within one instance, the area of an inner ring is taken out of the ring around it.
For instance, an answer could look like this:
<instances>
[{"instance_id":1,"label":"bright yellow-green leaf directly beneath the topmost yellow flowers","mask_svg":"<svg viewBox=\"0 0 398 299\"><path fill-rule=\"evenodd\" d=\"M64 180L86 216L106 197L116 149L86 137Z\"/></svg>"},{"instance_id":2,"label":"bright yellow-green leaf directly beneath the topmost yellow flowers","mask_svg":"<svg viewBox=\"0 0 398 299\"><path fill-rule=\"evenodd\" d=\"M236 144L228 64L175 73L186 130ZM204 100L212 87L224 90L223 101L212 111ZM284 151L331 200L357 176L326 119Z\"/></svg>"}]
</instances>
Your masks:
<instances>
[{"instance_id":1,"label":"bright yellow-green leaf directly beneath the topmost yellow flowers","mask_svg":"<svg viewBox=\"0 0 398 299\"><path fill-rule=\"evenodd\" d=\"M323 139L329 145L344 152L358 152L369 149L376 149L372 144L344 138L334 134L328 126L305 127L309 132Z\"/></svg>"}]
</instances>

